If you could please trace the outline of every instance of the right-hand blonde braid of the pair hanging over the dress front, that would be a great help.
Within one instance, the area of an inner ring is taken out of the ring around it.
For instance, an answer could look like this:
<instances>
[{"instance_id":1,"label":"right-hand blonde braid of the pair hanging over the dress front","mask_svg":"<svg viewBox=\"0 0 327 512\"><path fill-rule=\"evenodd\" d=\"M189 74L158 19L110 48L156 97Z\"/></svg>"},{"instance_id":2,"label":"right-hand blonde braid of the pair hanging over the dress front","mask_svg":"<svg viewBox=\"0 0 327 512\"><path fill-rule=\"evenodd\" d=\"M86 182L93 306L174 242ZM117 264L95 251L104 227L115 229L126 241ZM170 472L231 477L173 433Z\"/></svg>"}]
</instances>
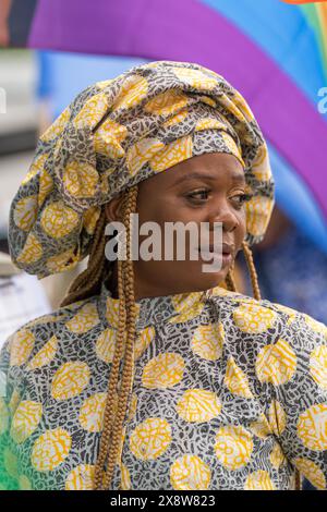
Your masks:
<instances>
[{"instance_id":1,"label":"right-hand blonde braid of the pair hanging over the dress front","mask_svg":"<svg viewBox=\"0 0 327 512\"><path fill-rule=\"evenodd\" d=\"M111 484L114 464L119 453L121 444L123 422L126 414L129 395L133 383L133 366L134 366L134 342L135 342L135 321L136 321L136 305L134 296L134 271L133 261L131 260L131 222L130 214L133 214L136 209L136 197L137 188L133 187L129 191L129 200L125 208L124 225L128 231L128 260L123 261L124 271L124 291L125 291L125 307L126 307L126 348L124 357L124 367L122 371L121 389L119 395L119 404L117 409L117 415L114 418L114 425L112 430L112 439L109 448L108 465L104 481L104 488L108 489Z\"/></svg>"}]
</instances>

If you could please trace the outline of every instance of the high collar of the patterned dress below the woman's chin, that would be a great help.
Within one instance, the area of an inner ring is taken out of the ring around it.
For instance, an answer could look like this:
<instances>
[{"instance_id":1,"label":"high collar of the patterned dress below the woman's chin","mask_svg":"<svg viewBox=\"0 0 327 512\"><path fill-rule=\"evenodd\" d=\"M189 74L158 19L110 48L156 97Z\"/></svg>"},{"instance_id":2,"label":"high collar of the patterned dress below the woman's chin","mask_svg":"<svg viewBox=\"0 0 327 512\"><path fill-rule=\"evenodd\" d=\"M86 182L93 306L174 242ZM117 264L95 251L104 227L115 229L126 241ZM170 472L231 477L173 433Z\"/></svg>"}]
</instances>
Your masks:
<instances>
[{"instance_id":1,"label":"high collar of the patterned dress below the woman's chin","mask_svg":"<svg viewBox=\"0 0 327 512\"><path fill-rule=\"evenodd\" d=\"M194 318L205 307L211 296L230 294L220 287L201 292L177 293L155 297L143 297L136 301L136 329L162 321L185 321ZM118 328L119 298L113 298L105 282L99 295L99 314L102 321L112 328Z\"/></svg>"}]
</instances>

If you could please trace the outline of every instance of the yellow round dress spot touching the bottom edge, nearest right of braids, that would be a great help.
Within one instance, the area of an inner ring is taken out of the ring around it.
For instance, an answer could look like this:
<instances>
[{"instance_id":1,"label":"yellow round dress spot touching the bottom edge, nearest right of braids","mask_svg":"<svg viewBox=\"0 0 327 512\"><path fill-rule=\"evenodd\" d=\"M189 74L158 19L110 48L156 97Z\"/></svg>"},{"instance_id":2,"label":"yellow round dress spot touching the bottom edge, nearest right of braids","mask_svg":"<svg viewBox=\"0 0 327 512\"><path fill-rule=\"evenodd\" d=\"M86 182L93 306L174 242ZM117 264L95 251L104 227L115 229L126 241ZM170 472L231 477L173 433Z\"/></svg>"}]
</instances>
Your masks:
<instances>
[{"instance_id":1,"label":"yellow round dress spot touching the bottom edge, nearest right of braids","mask_svg":"<svg viewBox=\"0 0 327 512\"><path fill-rule=\"evenodd\" d=\"M208 489L210 478L210 468L196 455L183 455L170 468L170 481L175 490Z\"/></svg>"}]
</instances>

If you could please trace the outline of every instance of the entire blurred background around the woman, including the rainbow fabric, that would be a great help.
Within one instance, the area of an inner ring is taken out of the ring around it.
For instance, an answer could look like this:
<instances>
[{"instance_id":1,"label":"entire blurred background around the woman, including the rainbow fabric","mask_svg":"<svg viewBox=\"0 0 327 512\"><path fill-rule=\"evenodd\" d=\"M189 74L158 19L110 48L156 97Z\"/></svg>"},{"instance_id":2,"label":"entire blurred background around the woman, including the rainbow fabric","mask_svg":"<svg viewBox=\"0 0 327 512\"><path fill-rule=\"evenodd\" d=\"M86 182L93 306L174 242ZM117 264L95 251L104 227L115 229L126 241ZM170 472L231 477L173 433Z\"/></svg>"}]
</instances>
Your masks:
<instances>
[{"instance_id":1,"label":"entire blurred background around the woman, including the rainbow fabric","mask_svg":"<svg viewBox=\"0 0 327 512\"><path fill-rule=\"evenodd\" d=\"M162 59L206 65L249 101L276 180L268 233L254 247L263 297L327 324L327 114L318 111L327 4L0 0L0 345L25 320L57 308L85 265L38 281L5 257L9 207L38 135L89 84ZM242 257L237 282L252 293Z\"/></svg>"}]
</instances>

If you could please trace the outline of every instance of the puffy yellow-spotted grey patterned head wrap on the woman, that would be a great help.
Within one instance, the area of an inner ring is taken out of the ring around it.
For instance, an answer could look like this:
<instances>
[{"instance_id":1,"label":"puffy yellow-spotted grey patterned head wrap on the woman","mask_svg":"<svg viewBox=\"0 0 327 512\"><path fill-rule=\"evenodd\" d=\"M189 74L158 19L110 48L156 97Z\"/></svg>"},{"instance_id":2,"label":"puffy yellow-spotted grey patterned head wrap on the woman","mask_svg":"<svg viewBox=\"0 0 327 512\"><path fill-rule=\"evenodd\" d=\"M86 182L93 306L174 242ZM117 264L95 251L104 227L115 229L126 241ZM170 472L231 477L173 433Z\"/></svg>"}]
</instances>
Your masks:
<instances>
[{"instance_id":1,"label":"puffy yellow-spotted grey patterned head wrap on the woman","mask_svg":"<svg viewBox=\"0 0 327 512\"><path fill-rule=\"evenodd\" d=\"M39 138L10 210L15 265L44 278L89 254L100 210L122 191L187 158L228 153L242 163L249 244L274 206L266 143L244 98L196 63L136 65L83 90Z\"/></svg>"}]
</instances>

